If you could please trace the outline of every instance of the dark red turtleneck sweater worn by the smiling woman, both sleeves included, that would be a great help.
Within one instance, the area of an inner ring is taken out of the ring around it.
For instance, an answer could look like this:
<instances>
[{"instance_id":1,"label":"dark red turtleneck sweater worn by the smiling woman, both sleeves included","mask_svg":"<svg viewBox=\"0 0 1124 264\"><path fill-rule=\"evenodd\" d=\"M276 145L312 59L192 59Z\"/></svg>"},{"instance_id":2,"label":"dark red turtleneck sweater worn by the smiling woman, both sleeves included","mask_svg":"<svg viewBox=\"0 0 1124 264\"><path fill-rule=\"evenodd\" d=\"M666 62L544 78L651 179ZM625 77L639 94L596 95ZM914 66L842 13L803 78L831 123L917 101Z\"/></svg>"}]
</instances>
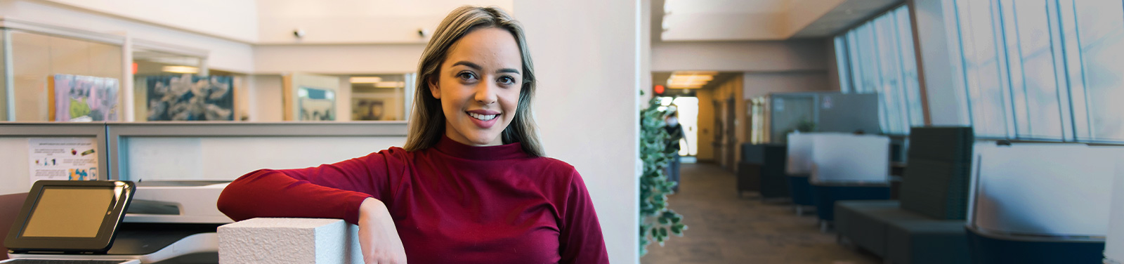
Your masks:
<instances>
[{"instance_id":1,"label":"dark red turtleneck sweater worn by the smiling woman, both sleeves included","mask_svg":"<svg viewBox=\"0 0 1124 264\"><path fill-rule=\"evenodd\" d=\"M390 209L409 263L608 263L581 175L518 143L473 147L447 137L335 164L259 170L230 183L218 208L255 217L359 221L363 199Z\"/></svg>"}]
</instances>

